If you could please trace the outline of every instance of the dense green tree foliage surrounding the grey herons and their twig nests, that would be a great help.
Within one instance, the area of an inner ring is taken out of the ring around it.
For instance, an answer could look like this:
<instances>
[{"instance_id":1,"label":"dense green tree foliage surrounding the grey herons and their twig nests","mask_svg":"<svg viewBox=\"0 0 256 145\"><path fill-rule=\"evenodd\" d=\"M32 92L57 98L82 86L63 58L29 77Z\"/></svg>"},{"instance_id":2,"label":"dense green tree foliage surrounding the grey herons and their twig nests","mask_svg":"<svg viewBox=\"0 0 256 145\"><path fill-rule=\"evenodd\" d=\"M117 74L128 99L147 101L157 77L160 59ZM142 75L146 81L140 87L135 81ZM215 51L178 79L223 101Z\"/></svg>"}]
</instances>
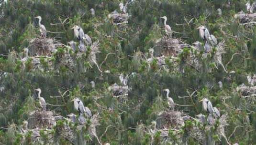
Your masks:
<instances>
[{"instance_id":1,"label":"dense green tree foliage surrounding the grey herons and their twig nests","mask_svg":"<svg viewBox=\"0 0 256 145\"><path fill-rule=\"evenodd\" d=\"M234 17L241 10L246 12L247 0L134 0L128 5L128 23L115 25L109 14L114 10L122 13L120 2L127 1L1 3L0 145L255 145L256 88L247 76L256 73L256 29L254 23L242 23ZM218 14L219 8L222 15ZM33 46L34 40L44 40L34 18L39 15L48 31L47 38L61 45L47 56L30 52L23 61L26 48L43 45ZM169 38L165 36L162 16L167 16L167 24L174 31L172 39L186 44L177 55L167 56L163 66L157 60L165 51L160 43ZM73 52L67 46L69 41L78 42L71 30L74 25L80 26L93 42L99 41L99 68L90 59L93 46L84 53ZM204 43L197 29L200 25L223 42L225 53L221 54L221 62L227 72L235 73L225 73L216 61L217 48L212 48L211 53L195 53L192 43ZM149 62L152 49L155 52ZM192 54L200 69L189 63ZM39 67L33 62L37 57ZM67 58L72 63L66 63ZM115 97L111 86L124 85L119 81L121 73L129 76L129 91L128 95ZM249 94L238 89L243 83L251 90ZM34 92L37 88L41 88L41 96L48 104L46 112L66 119L43 127L38 122L24 132L24 121L30 123L36 112L44 114ZM176 103L175 111L168 107L162 91L166 88ZM75 97L93 114L86 124L70 123L67 119L71 113L78 117L71 102ZM220 117L211 125L195 119L200 113L209 115L200 102L204 97L220 110L224 119ZM190 118L183 121L184 116ZM65 134L67 131L69 135Z\"/></svg>"}]
</instances>

